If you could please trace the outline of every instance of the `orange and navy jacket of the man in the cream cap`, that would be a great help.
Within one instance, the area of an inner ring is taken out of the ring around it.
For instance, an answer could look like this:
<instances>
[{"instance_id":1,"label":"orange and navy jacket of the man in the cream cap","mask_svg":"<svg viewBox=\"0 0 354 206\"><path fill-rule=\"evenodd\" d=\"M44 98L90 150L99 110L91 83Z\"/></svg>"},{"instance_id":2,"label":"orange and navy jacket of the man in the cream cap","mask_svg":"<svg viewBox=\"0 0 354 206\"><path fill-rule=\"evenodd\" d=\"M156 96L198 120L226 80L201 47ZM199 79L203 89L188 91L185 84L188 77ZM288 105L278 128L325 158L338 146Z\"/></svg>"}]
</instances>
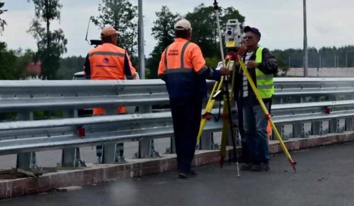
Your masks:
<instances>
[{"instance_id":1,"label":"orange and navy jacket of the man in the cream cap","mask_svg":"<svg viewBox=\"0 0 354 206\"><path fill-rule=\"evenodd\" d=\"M158 75L170 98L206 96L205 79L220 80L219 70L206 67L198 45L177 38L161 55Z\"/></svg>"}]
</instances>

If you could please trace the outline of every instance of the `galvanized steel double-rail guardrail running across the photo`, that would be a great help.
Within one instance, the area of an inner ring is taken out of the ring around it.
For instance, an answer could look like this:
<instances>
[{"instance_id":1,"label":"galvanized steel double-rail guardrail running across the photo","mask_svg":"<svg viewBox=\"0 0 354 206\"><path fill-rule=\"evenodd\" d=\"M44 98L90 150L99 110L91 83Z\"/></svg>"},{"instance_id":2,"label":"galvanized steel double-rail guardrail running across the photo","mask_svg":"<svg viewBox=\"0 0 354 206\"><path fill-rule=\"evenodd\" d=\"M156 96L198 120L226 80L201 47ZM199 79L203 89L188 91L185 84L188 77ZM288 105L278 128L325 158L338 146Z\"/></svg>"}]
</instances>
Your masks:
<instances>
[{"instance_id":1,"label":"galvanized steel double-rail guardrail running across the photo","mask_svg":"<svg viewBox=\"0 0 354 206\"><path fill-rule=\"evenodd\" d=\"M283 138L353 129L354 78L276 78L275 88L272 114ZM17 166L28 168L34 151L63 149L62 164L80 166L79 147L103 144L103 162L122 162L122 143L139 141L139 157L151 157L153 139L173 135L171 113L151 108L168 103L162 80L0 81L1 113L17 113L17 121L0 122L0 155L18 153ZM139 114L116 115L118 106L139 106ZM78 109L93 107L107 115L78 117ZM64 116L33 120L34 111L44 110ZM201 149L210 149L210 132L221 127L208 121Z\"/></svg>"}]
</instances>

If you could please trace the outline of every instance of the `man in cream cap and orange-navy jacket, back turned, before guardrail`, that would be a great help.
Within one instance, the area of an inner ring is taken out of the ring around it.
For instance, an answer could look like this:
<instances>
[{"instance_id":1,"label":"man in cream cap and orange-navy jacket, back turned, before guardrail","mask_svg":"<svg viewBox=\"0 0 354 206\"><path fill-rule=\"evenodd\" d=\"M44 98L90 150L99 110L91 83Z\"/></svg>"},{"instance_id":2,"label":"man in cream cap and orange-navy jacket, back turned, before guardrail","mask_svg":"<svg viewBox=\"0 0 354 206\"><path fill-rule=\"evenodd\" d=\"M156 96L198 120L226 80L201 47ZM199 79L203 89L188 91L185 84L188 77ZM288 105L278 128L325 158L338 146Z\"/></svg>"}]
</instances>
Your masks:
<instances>
[{"instance_id":1,"label":"man in cream cap and orange-navy jacket, back turned, before guardrail","mask_svg":"<svg viewBox=\"0 0 354 206\"><path fill-rule=\"evenodd\" d=\"M191 169L201 120L202 99L206 96L205 79L220 80L228 69L206 67L198 45L189 42L190 23L175 24L175 41L161 55L158 75L166 82L170 97L173 131L177 153L178 176L196 177Z\"/></svg>"}]
</instances>

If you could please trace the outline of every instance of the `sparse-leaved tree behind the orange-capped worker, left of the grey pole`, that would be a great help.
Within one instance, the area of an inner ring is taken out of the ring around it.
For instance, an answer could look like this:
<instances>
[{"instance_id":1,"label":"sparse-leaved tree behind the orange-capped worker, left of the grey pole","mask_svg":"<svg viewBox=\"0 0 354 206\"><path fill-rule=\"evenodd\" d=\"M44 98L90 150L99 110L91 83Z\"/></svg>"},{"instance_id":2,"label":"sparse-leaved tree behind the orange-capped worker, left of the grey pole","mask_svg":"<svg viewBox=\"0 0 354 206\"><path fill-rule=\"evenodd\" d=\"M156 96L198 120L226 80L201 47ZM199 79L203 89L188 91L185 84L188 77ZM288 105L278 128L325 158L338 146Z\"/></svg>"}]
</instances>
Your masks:
<instances>
[{"instance_id":1,"label":"sparse-leaved tree behind the orange-capped worker, left of the grey pole","mask_svg":"<svg viewBox=\"0 0 354 206\"><path fill-rule=\"evenodd\" d=\"M102 0L98 11L101 14L92 18L92 22L100 28L110 25L118 30L120 46L135 56L138 45L138 7L128 0Z\"/></svg>"}]
</instances>

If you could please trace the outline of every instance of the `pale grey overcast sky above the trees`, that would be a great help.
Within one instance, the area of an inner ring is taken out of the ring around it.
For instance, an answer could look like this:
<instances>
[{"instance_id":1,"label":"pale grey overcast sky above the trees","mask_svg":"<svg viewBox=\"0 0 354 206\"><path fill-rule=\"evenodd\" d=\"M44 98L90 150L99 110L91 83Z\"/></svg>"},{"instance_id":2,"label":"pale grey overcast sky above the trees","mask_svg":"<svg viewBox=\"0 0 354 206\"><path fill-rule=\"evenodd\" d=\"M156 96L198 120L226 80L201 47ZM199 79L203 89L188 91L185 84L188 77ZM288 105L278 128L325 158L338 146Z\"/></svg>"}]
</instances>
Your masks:
<instances>
[{"instance_id":1,"label":"pale grey overcast sky above the trees","mask_svg":"<svg viewBox=\"0 0 354 206\"><path fill-rule=\"evenodd\" d=\"M7 22L0 41L16 49L36 50L36 41L26 30L34 17L34 5L27 0L2 0L8 11L0 17ZM133 5L138 0L130 0ZM62 28L68 39L67 56L85 56L92 47L85 41L87 23L91 15L98 15L101 0L60 0L63 5L61 21L52 23L52 29ZM219 0L222 7L234 6L246 17L246 25L257 27L262 33L260 44L270 49L303 47L302 0ZM143 0L145 55L153 50L155 40L151 28L155 12L166 5L172 12L185 14L201 3L211 5L213 0ZM308 45L344 46L354 44L353 0L308 0ZM99 38L100 30L90 26L89 39Z\"/></svg>"}]
</instances>

